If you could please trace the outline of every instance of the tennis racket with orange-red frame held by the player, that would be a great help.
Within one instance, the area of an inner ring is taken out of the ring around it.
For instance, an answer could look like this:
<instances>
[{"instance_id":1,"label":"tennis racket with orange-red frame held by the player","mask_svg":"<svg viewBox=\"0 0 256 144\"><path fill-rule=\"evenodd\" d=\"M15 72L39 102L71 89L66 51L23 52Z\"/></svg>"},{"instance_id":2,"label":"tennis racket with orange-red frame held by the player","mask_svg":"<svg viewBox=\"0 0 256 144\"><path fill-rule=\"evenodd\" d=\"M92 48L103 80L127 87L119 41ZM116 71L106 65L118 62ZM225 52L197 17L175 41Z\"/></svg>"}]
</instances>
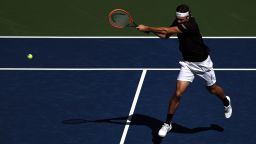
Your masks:
<instances>
[{"instance_id":1,"label":"tennis racket with orange-red frame held by the player","mask_svg":"<svg viewBox=\"0 0 256 144\"><path fill-rule=\"evenodd\" d=\"M114 28L134 27L138 25L134 22L132 15L123 9L114 9L108 14L108 21Z\"/></svg>"}]
</instances>

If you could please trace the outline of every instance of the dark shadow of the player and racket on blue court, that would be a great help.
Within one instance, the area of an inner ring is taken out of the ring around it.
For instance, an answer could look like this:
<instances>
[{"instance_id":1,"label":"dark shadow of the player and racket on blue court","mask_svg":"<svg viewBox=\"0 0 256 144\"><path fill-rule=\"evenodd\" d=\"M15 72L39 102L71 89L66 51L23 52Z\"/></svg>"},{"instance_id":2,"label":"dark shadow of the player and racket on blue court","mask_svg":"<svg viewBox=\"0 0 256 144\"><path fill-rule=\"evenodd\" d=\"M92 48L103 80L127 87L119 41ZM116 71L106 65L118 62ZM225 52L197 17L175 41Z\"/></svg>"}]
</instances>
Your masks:
<instances>
[{"instance_id":1,"label":"dark shadow of the player and racket on blue court","mask_svg":"<svg viewBox=\"0 0 256 144\"><path fill-rule=\"evenodd\" d=\"M127 119L131 119L131 122L126 122ZM83 123L111 123L111 124L120 124L126 125L129 124L133 125L144 125L149 127L152 132L152 142L153 144L160 144L162 142L162 138L158 136L158 130L162 127L163 122L155 119L153 117L142 115L142 114L133 114L129 117L116 117L116 118L107 118L107 119L98 119L98 120L86 120L86 119L69 119L64 120L63 124L83 124ZM177 123L172 123L172 130L173 133L183 133L183 134L194 134L203 131L214 130L218 132L224 131L224 129L217 125L211 124L209 127L196 127L196 128L187 128Z\"/></svg>"}]
</instances>

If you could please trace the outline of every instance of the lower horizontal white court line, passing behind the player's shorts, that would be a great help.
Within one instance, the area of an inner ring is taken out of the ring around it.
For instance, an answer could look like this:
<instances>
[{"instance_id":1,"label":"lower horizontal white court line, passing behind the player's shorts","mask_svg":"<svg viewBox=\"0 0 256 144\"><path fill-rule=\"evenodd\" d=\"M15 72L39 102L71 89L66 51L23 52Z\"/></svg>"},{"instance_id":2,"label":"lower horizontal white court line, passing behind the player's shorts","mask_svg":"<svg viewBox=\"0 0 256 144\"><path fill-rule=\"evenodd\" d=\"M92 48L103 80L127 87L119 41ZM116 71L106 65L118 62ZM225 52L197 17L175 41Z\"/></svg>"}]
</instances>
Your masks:
<instances>
[{"instance_id":1,"label":"lower horizontal white court line, passing behind the player's shorts","mask_svg":"<svg viewBox=\"0 0 256 144\"><path fill-rule=\"evenodd\" d=\"M0 68L0 71L178 71L180 68ZM215 71L256 71L256 68L214 68Z\"/></svg>"}]
</instances>

